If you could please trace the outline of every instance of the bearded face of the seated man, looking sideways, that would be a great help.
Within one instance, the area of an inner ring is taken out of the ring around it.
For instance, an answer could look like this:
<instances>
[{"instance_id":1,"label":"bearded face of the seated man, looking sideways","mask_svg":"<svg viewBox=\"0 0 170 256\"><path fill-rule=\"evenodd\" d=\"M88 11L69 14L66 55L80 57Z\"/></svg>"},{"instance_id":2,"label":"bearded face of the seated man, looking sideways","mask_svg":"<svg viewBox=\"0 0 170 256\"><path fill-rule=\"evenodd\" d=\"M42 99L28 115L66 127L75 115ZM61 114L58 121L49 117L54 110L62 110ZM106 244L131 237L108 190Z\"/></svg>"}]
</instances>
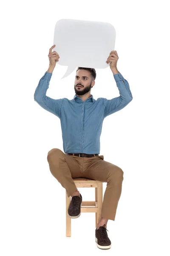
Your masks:
<instances>
[{"instance_id":1,"label":"bearded face of the seated man, looking sideways","mask_svg":"<svg viewBox=\"0 0 170 256\"><path fill-rule=\"evenodd\" d=\"M78 84L82 87L77 87ZM94 81L91 81L91 73L88 70L77 70L74 82L75 93L77 95L88 93L91 90L91 84L94 85Z\"/></svg>"}]
</instances>

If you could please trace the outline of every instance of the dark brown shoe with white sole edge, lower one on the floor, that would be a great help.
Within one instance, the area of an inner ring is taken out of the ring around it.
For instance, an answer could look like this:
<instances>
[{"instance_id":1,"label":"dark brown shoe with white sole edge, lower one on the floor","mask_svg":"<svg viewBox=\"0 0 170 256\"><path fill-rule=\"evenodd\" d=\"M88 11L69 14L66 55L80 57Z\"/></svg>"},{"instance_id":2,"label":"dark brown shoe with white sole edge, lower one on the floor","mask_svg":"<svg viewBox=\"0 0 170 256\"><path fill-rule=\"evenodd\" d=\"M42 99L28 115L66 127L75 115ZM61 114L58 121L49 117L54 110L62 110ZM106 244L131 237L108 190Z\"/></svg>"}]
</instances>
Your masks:
<instances>
[{"instance_id":1,"label":"dark brown shoe with white sole edge, lower one on the floor","mask_svg":"<svg viewBox=\"0 0 170 256\"><path fill-rule=\"evenodd\" d=\"M105 224L99 229L95 230L95 239L97 243L97 247L100 249L109 249L111 248L111 240L108 238L107 229L105 228Z\"/></svg>"}]
</instances>

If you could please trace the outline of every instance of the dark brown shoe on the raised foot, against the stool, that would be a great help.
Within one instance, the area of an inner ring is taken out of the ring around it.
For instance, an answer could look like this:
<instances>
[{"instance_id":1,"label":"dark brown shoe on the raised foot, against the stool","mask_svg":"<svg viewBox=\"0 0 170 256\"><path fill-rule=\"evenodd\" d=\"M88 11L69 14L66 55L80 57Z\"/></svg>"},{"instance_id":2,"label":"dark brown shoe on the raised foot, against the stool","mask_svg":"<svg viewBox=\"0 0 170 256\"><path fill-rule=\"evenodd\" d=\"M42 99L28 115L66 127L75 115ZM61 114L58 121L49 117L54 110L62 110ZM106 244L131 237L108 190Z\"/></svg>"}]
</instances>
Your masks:
<instances>
[{"instance_id":1,"label":"dark brown shoe on the raised foot, against the stool","mask_svg":"<svg viewBox=\"0 0 170 256\"><path fill-rule=\"evenodd\" d=\"M81 215L82 195L74 195L68 207L68 216L78 218Z\"/></svg>"}]
</instances>

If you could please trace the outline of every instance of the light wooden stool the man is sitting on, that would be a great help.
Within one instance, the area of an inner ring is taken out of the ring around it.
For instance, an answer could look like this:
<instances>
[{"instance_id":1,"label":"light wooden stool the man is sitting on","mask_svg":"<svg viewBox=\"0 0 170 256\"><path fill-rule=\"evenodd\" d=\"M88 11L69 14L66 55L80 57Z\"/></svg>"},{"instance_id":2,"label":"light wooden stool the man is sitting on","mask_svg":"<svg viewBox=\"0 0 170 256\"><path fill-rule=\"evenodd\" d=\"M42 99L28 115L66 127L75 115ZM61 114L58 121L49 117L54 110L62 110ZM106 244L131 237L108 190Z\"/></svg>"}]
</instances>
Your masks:
<instances>
[{"instance_id":1,"label":"light wooden stool the man is sitting on","mask_svg":"<svg viewBox=\"0 0 170 256\"><path fill-rule=\"evenodd\" d=\"M95 188L95 201L82 201L81 212L95 212L97 227L97 223L101 218L101 210L103 203L102 181L90 180L86 178L74 178L73 180L77 188ZM69 218L68 216L68 207L70 205L70 202L71 196L68 197L66 192L66 236L71 236L71 218Z\"/></svg>"}]
</instances>

